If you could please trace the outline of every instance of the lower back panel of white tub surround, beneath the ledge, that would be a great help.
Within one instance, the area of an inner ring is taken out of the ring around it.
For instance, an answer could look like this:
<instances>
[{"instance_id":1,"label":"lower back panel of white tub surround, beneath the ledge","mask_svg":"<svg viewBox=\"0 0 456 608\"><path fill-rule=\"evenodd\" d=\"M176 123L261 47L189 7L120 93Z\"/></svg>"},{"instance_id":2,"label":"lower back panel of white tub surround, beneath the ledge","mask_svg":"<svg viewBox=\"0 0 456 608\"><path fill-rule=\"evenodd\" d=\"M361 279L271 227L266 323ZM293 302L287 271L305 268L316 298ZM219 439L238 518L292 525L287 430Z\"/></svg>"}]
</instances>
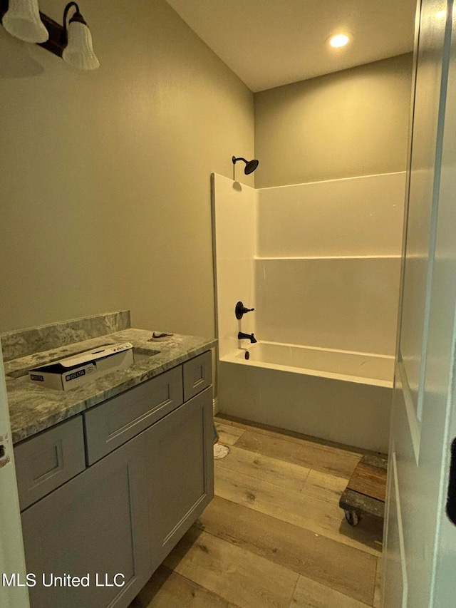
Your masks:
<instances>
[{"instance_id":1,"label":"lower back panel of white tub surround, beneath the ledge","mask_svg":"<svg viewBox=\"0 0 456 608\"><path fill-rule=\"evenodd\" d=\"M394 353L400 256L257 258L255 267L259 339Z\"/></svg>"}]
</instances>

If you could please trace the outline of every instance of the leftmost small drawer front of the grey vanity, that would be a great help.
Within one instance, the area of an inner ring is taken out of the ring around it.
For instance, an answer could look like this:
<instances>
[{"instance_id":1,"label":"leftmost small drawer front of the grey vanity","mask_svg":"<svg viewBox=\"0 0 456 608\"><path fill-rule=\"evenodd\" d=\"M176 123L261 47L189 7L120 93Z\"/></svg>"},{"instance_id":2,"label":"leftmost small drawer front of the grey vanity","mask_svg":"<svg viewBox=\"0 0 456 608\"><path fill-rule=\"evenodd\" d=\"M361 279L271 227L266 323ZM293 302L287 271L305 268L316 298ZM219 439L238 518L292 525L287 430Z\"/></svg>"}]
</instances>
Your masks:
<instances>
[{"instance_id":1,"label":"leftmost small drawer front of the grey vanity","mask_svg":"<svg viewBox=\"0 0 456 608\"><path fill-rule=\"evenodd\" d=\"M24 510L86 468L82 416L19 443L14 460Z\"/></svg>"}]
</instances>

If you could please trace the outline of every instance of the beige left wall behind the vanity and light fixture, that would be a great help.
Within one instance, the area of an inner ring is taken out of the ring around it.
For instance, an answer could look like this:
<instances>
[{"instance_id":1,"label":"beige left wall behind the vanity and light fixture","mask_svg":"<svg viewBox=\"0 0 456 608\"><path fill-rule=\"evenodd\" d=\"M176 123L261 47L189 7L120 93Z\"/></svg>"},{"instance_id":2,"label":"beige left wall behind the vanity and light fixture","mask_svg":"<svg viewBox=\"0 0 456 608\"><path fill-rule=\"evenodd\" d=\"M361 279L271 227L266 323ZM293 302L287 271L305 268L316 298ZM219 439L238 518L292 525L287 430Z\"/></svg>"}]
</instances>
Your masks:
<instances>
[{"instance_id":1,"label":"beige left wall behind the vanity and light fixture","mask_svg":"<svg viewBox=\"0 0 456 608\"><path fill-rule=\"evenodd\" d=\"M0 27L0 331L130 308L213 335L209 176L253 156L253 95L163 0L81 10L93 73Z\"/></svg>"}]
</instances>

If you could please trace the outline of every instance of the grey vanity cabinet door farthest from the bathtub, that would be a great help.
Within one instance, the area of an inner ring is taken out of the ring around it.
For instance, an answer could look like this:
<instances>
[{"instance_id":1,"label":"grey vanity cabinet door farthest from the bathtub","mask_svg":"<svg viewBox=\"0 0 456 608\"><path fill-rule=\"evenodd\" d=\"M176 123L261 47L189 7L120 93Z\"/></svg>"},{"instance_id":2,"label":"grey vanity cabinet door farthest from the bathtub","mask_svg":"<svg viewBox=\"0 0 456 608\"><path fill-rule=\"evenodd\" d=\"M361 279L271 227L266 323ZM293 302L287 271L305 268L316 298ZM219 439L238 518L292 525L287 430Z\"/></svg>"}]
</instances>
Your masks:
<instances>
[{"instance_id":1,"label":"grey vanity cabinet door farthest from the bathtub","mask_svg":"<svg viewBox=\"0 0 456 608\"><path fill-rule=\"evenodd\" d=\"M151 573L146 483L140 435L22 513L31 608L128 606ZM51 574L90 585L44 587ZM97 586L115 574L123 587Z\"/></svg>"}]
</instances>

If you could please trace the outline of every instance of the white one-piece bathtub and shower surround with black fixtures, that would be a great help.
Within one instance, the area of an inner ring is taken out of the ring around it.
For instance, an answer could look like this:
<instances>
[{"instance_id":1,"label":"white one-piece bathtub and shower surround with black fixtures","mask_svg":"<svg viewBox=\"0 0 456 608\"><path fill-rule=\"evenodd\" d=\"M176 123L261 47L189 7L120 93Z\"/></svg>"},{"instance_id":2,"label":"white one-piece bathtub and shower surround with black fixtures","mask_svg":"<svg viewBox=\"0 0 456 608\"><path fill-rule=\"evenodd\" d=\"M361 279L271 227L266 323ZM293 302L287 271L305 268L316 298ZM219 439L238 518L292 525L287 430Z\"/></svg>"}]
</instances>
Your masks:
<instances>
[{"instance_id":1,"label":"white one-piece bathtub and shower surround with black fixtures","mask_svg":"<svg viewBox=\"0 0 456 608\"><path fill-rule=\"evenodd\" d=\"M219 411L386 451L405 173L212 183ZM242 321L238 299L255 306Z\"/></svg>"}]
</instances>

